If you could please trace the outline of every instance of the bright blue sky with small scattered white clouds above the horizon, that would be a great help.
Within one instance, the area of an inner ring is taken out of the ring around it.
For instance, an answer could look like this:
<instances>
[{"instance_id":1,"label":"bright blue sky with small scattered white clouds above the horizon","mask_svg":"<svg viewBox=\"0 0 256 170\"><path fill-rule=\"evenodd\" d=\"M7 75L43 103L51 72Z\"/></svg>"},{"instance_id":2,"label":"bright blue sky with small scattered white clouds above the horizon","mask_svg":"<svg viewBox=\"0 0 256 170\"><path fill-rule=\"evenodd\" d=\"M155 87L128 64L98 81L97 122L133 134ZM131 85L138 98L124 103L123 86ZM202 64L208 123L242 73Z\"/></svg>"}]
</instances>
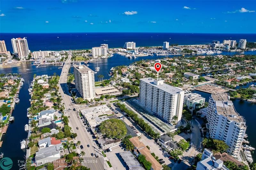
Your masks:
<instances>
[{"instance_id":1,"label":"bright blue sky with small scattered white clouds above the horizon","mask_svg":"<svg viewBox=\"0 0 256 170\"><path fill-rule=\"evenodd\" d=\"M5 1L1 33L256 33L256 1Z\"/></svg>"}]
</instances>

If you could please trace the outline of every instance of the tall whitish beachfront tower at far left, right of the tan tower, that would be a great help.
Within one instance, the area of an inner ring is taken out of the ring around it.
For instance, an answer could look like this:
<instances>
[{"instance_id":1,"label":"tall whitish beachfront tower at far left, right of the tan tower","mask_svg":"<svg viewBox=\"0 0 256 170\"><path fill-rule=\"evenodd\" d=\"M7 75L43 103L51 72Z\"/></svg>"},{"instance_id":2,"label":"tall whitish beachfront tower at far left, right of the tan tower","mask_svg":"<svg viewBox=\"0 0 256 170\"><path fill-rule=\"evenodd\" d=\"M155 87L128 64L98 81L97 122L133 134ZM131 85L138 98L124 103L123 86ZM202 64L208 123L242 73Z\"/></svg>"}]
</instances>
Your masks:
<instances>
[{"instance_id":1,"label":"tall whitish beachfront tower at far left, right of the tan tower","mask_svg":"<svg viewBox=\"0 0 256 170\"><path fill-rule=\"evenodd\" d=\"M24 38L12 38L12 49L13 53L18 55L20 60L25 60L30 53L28 49L28 42L27 39Z\"/></svg>"}]
</instances>

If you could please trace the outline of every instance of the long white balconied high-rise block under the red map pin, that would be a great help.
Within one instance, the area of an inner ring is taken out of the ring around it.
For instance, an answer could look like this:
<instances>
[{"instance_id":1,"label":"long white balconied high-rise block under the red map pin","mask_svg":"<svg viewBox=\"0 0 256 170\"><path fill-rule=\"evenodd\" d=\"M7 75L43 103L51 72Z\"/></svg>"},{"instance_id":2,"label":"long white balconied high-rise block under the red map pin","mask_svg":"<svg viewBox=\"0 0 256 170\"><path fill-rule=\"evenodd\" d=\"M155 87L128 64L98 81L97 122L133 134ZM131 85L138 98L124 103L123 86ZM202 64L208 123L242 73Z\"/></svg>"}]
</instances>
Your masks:
<instances>
[{"instance_id":1,"label":"long white balconied high-rise block under the red map pin","mask_svg":"<svg viewBox=\"0 0 256 170\"><path fill-rule=\"evenodd\" d=\"M168 123L172 123L173 116L177 116L180 123L183 100L184 91L165 84L164 80L140 79L140 104Z\"/></svg>"}]
</instances>

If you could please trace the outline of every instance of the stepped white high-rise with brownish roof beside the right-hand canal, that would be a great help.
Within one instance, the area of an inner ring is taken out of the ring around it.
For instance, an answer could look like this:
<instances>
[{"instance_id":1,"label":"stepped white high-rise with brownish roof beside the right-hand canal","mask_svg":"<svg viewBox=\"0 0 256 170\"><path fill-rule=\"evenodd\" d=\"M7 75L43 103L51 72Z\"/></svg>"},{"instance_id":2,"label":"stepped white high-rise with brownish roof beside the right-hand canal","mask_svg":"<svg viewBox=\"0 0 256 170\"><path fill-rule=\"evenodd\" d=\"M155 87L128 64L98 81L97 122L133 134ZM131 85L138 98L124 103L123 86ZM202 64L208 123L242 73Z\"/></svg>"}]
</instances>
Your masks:
<instances>
[{"instance_id":1,"label":"stepped white high-rise with brownish roof beside the right-hand canal","mask_svg":"<svg viewBox=\"0 0 256 170\"><path fill-rule=\"evenodd\" d=\"M224 141L227 153L235 158L239 155L246 130L243 116L240 116L227 93L212 94L206 115L210 137Z\"/></svg>"}]
</instances>

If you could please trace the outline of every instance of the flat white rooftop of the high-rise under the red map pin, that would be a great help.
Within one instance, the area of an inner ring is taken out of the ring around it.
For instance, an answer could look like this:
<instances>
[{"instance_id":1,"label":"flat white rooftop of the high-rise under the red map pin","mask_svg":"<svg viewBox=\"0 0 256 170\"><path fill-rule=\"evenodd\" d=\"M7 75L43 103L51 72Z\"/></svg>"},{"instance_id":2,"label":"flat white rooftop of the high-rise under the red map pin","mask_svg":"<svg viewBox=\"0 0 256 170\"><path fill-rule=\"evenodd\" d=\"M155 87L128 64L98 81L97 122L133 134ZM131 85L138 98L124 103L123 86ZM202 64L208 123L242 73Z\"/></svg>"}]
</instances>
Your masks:
<instances>
[{"instance_id":1,"label":"flat white rooftop of the high-rise under the red map pin","mask_svg":"<svg viewBox=\"0 0 256 170\"><path fill-rule=\"evenodd\" d=\"M154 84L154 80L155 79L153 79L153 78L141 78L140 79L140 81L144 81L144 82L146 82L146 83L148 83L148 84L150 84L150 85L152 85L152 86L154 86L154 87L156 87L158 89L161 89L161 90L163 90L165 92L168 92L170 94L176 94L178 92L182 92L183 91L182 89L180 89L178 87L173 87L173 86L167 85L165 83L160 84L160 85L156 85L156 84Z\"/></svg>"}]
</instances>

